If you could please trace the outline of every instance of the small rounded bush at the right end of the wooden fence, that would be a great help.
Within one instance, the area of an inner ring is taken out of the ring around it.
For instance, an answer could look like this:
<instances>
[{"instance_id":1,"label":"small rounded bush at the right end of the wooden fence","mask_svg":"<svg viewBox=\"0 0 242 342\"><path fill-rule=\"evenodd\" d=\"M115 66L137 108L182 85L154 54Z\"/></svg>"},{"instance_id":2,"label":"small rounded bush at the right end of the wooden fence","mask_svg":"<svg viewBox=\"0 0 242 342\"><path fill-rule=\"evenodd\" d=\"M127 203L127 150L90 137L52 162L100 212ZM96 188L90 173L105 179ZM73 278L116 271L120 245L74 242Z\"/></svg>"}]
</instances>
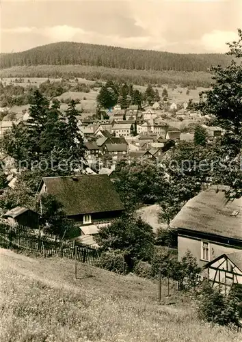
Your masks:
<instances>
[{"instance_id":1,"label":"small rounded bush at the right end of the wooden fence","mask_svg":"<svg viewBox=\"0 0 242 342\"><path fill-rule=\"evenodd\" d=\"M126 273L124 254L120 250L103 252L100 256L100 265L108 271L113 271L118 274Z\"/></svg>"}]
</instances>

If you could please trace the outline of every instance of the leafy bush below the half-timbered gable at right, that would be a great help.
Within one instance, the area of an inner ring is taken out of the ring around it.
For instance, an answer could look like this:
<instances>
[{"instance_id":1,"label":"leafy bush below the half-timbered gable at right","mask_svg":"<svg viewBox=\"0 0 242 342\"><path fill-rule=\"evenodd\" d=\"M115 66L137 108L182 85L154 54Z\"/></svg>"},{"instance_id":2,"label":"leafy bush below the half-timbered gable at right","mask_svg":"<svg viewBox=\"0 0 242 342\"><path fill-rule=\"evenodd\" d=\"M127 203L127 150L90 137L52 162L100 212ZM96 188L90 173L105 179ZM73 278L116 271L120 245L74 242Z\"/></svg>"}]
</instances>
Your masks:
<instances>
[{"instance_id":1,"label":"leafy bush below the half-timbered gable at right","mask_svg":"<svg viewBox=\"0 0 242 342\"><path fill-rule=\"evenodd\" d=\"M198 295L198 314L205 321L228 326L238 324L239 300L233 293L224 295L205 282Z\"/></svg>"}]
</instances>

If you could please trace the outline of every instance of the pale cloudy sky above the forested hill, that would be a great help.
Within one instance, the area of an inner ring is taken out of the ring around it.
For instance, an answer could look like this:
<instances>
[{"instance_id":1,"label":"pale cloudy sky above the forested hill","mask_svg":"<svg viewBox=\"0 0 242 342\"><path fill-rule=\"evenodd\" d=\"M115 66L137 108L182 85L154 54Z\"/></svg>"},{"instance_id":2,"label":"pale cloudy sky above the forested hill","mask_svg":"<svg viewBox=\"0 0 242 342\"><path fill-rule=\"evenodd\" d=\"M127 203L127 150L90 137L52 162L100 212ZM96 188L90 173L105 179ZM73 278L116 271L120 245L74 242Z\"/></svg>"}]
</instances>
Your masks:
<instances>
[{"instance_id":1,"label":"pale cloudy sky above the forested hill","mask_svg":"<svg viewBox=\"0 0 242 342\"><path fill-rule=\"evenodd\" d=\"M0 0L0 51L61 41L174 53L224 53L242 0Z\"/></svg>"}]
</instances>

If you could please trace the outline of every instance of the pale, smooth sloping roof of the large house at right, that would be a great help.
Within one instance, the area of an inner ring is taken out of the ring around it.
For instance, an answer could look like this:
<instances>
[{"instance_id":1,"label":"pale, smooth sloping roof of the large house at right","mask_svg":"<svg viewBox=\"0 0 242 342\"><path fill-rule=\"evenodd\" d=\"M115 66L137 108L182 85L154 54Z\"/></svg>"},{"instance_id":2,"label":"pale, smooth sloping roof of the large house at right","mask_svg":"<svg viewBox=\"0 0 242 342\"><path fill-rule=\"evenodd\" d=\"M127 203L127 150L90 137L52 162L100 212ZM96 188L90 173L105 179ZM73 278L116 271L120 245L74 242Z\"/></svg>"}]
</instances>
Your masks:
<instances>
[{"instance_id":1,"label":"pale, smooth sloping roof of the large house at right","mask_svg":"<svg viewBox=\"0 0 242 342\"><path fill-rule=\"evenodd\" d=\"M179 211L171 226L242 240L242 201L226 199L226 186L212 185L191 198ZM238 215L232 215L239 211Z\"/></svg>"}]
</instances>

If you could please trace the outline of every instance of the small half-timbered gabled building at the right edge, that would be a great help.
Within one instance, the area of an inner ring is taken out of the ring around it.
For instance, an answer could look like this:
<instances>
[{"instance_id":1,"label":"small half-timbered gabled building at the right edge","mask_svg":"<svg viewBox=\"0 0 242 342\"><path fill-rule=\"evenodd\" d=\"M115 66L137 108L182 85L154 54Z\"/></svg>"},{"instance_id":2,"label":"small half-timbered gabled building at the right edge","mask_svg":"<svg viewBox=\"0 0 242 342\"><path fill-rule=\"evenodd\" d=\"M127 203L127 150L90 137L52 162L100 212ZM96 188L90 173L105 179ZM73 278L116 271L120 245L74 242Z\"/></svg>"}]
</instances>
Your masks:
<instances>
[{"instance_id":1,"label":"small half-timbered gabled building at the right edge","mask_svg":"<svg viewBox=\"0 0 242 342\"><path fill-rule=\"evenodd\" d=\"M228 293L234 284L242 285L242 250L221 254L207 263L203 276L212 287L219 287L224 293Z\"/></svg>"}]
</instances>

